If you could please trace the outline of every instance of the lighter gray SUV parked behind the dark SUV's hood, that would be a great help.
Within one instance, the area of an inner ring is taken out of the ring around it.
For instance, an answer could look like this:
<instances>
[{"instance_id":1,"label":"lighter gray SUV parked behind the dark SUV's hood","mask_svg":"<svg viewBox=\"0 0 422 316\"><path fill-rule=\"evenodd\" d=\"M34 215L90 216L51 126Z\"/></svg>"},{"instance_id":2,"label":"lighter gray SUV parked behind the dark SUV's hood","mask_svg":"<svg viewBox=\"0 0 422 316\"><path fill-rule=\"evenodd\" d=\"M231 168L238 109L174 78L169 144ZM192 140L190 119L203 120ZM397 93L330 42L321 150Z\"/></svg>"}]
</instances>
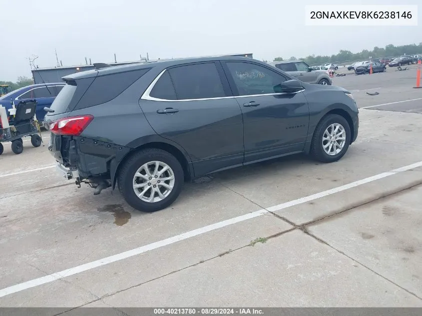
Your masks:
<instances>
[{"instance_id":1,"label":"lighter gray SUV parked behind the dark SUV's hood","mask_svg":"<svg viewBox=\"0 0 422 316\"><path fill-rule=\"evenodd\" d=\"M302 60L273 61L269 64L287 72L288 74L291 74L303 82L324 85L332 84L331 78L326 71L314 70L305 61Z\"/></svg>"}]
</instances>

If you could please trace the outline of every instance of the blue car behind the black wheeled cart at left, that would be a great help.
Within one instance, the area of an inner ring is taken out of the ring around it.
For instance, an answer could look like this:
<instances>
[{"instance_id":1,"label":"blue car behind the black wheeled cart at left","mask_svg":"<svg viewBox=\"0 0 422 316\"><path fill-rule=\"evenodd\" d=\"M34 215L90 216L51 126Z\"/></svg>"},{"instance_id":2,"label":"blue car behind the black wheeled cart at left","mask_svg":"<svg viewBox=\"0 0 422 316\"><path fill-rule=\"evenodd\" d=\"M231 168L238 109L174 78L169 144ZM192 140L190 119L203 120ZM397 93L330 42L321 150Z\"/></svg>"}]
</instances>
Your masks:
<instances>
[{"instance_id":1,"label":"blue car behind the black wheeled cart at left","mask_svg":"<svg viewBox=\"0 0 422 316\"><path fill-rule=\"evenodd\" d=\"M8 114L8 109L12 108L11 101L17 104L19 101L36 100L35 116L38 121L42 122L45 115L44 107L50 107L64 84L64 82L58 82L28 85L0 97L0 105L6 108Z\"/></svg>"}]
</instances>

